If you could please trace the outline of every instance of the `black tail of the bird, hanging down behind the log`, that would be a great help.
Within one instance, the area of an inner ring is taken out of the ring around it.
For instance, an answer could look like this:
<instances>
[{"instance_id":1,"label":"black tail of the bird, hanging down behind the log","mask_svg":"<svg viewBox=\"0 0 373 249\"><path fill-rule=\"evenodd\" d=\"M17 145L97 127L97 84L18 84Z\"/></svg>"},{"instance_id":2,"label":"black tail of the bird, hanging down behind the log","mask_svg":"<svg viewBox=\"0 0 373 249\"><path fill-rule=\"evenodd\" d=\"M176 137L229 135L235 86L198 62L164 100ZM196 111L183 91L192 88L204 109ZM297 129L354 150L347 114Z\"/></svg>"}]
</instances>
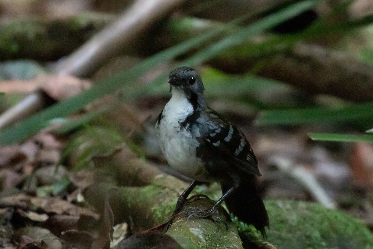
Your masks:
<instances>
[{"instance_id":1,"label":"black tail of the bird, hanging down behind the log","mask_svg":"<svg viewBox=\"0 0 373 249\"><path fill-rule=\"evenodd\" d=\"M223 194L232 187L227 182L221 182L220 185ZM266 238L264 227L269 228L268 214L258 192L254 175L245 175L238 189L235 189L225 199L225 204L230 213L237 216L240 221L253 224L261 232L263 238Z\"/></svg>"}]
</instances>

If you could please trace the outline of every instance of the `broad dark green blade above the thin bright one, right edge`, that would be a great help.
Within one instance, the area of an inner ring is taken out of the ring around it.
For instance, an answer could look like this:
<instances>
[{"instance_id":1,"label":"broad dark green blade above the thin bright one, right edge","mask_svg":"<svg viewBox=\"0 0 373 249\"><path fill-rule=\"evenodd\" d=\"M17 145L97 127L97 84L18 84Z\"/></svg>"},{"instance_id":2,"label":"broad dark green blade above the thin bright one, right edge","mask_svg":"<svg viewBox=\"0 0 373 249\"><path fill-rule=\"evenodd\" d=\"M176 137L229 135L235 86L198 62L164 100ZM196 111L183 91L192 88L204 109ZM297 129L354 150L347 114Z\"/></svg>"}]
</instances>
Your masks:
<instances>
[{"instance_id":1,"label":"broad dark green blade above the thin bright one, right edge","mask_svg":"<svg viewBox=\"0 0 373 249\"><path fill-rule=\"evenodd\" d=\"M355 104L339 109L305 108L261 111L257 125L297 125L342 121L373 120L373 102Z\"/></svg>"}]
</instances>

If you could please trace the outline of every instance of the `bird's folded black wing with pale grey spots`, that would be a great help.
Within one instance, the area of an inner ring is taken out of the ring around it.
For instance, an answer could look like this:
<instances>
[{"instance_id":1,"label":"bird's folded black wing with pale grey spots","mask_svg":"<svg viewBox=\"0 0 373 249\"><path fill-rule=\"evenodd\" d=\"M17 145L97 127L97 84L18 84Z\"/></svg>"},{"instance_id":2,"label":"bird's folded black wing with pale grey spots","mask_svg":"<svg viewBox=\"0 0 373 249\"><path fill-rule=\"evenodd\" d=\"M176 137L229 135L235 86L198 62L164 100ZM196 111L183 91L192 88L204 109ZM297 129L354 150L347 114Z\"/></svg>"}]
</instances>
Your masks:
<instances>
[{"instance_id":1,"label":"bird's folded black wing with pale grey spots","mask_svg":"<svg viewBox=\"0 0 373 249\"><path fill-rule=\"evenodd\" d=\"M195 112L183 125L191 129L200 146L206 146L242 171L261 175L254 152L242 131L213 109Z\"/></svg>"}]
</instances>

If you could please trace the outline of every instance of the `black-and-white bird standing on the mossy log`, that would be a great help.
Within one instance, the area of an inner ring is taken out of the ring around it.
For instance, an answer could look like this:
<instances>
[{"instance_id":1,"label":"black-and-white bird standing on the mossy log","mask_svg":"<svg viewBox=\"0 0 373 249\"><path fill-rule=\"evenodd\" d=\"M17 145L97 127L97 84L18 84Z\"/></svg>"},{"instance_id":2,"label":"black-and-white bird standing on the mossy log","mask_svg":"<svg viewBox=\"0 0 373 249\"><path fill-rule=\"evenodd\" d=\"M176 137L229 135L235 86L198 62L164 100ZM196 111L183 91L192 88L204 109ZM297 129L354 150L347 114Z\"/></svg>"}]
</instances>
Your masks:
<instances>
[{"instance_id":1,"label":"black-and-white bird standing on the mossy log","mask_svg":"<svg viewBox=\"0 0 373 249\"><path fill-rule=\"evenodd\" d=\"M261 176L253 149L242 131L209 108L200 74L182 66L170 72L171 99L156 121L160 149L168 164L193 180L179 196L174 214L181 211L197 183L218 182L222 197L209 210L194 208L188 218L213 218L225 202L240 221L252 224L266 237L269 218L258 192Z\"/></svg>"}]
</instances>

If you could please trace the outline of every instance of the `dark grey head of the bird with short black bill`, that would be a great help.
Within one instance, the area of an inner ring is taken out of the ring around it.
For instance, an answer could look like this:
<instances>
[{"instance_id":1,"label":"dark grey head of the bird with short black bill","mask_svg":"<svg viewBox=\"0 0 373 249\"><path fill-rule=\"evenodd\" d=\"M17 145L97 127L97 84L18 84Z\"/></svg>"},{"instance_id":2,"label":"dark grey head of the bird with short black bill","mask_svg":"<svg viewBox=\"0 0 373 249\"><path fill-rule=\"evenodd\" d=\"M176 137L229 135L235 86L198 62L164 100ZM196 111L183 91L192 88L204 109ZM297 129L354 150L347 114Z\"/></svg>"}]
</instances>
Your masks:
<instances>
[{"instance_id":1,"label":"dark grey head of the bird with short black bill","mask_svg":"<svg viewBox=\"0 0 373 249\"><path fill-rule=\"evenodd\" d=\"M182 91L192 105L204 105L205 90L200 74L193 68L181 66L170 72L170 90Z\"/></svg>"}]
</instances>

